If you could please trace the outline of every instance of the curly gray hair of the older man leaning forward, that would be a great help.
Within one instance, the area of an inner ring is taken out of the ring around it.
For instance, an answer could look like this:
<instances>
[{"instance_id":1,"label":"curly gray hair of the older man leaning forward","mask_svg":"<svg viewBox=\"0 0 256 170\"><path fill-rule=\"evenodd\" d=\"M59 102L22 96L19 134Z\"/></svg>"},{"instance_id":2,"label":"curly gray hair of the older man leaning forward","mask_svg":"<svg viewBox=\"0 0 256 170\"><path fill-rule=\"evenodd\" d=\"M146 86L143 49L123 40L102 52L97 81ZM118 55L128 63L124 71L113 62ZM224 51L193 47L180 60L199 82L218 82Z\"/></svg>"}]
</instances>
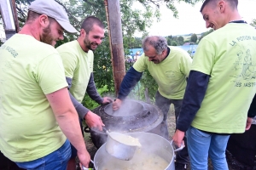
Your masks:
<instances>
[{"instance_id":1,"label":"curly gray hair of the older man leaning forward","mask_svg":"<svg viewBox=\"0 0 256 170\"><path fill-rule=\"evenodd\" d=\"M161 54L168 48L166 38L160 36L145 37L143 39L143 51L148 51L148 46L153 46L157 54Z\"/></svg>"}]
</instances>

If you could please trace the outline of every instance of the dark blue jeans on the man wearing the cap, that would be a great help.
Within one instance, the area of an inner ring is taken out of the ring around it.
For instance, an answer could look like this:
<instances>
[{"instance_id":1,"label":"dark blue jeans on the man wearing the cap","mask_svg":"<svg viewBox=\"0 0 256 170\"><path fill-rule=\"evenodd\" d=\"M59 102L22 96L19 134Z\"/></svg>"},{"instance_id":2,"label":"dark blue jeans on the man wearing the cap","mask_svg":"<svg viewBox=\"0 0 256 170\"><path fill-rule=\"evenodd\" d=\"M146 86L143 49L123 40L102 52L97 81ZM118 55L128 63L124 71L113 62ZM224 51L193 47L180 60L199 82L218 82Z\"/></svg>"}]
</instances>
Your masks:
<instances>
[{"instance_id":1,"label":"dark blue jeans on the man wearing the cap","mask_svg":"<svg viewBox=\"0 0 256 170\"><path fill-rule=\"evenodd\" d=\"M68 140L54 152L47 156L41 157L34 161L15 162L19 167L24 169L35 170L66 170L67 161L71 156L70 143Z\"/></svg>"}]
</instances>

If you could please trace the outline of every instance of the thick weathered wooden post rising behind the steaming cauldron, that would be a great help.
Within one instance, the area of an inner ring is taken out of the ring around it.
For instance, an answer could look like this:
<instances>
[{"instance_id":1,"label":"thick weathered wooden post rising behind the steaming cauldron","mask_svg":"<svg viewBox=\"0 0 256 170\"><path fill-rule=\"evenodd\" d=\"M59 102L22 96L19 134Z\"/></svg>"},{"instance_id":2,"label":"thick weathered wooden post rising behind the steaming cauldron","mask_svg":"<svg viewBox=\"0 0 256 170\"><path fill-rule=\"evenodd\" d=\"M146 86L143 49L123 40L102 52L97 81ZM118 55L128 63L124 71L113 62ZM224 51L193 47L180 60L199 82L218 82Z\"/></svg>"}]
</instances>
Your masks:
<instances>
[{"instance_id":1,"label":"thick weathered wooden post rising behind the steaming cauldron","mask_svg":"<svg viewBox=\"0 0 256 170\"><path fill-rule=\"evenodd\" d=\"M125 76L125 52L121 26L119 0L104 0L108 21L108 37L113 66L113 81L115 94L119 92L120 84Z\"/></svg>"}]
</instances>

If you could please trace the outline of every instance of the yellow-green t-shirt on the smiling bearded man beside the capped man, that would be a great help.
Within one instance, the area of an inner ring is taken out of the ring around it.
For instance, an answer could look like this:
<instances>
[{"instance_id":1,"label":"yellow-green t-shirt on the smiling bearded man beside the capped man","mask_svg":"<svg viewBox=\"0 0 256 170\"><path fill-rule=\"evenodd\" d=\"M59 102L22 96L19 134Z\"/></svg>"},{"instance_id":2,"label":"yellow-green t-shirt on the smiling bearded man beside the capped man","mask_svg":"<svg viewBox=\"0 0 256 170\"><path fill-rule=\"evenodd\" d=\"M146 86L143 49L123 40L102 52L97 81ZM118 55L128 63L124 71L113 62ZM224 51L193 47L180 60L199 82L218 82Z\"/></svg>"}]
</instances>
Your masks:
<instances>
[{"instance_id":1,"label":"yellow-green t-shirt on the smiling bearded man beside the capped man","mask_svg":"<svg viewBox=\"0 0 256 170\"><path fill-rule=\"evenodd\" d=\"M75 99L82 102L93 71L93 52L89 50L85 53L77 40L67 42L57 50L61 54L66 77L73 79L69 91Z\"/></svg>"}]
</instances>

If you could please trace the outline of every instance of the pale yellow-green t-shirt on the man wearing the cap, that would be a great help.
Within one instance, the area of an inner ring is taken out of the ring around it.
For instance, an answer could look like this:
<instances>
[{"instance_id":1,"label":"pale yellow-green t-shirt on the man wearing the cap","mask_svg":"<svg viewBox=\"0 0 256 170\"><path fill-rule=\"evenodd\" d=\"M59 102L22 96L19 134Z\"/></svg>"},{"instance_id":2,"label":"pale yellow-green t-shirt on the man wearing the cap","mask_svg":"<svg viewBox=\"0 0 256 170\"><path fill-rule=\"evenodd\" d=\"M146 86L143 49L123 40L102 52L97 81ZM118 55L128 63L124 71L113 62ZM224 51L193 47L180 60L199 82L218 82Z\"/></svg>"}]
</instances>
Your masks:
<instances>
[{"instance_id":1,"label":"pale yellow-green t-shirt on the man wearing the cap","mask_svg":"<svg viewBox=\"0 0 256 170\"><path fill-rule=\"evenodd\" d=\"M32 161L66 141L45 94L67 87L61 57L34 37L15 34L0 48L0 150Z\"/></svg>"}]
</instances>

